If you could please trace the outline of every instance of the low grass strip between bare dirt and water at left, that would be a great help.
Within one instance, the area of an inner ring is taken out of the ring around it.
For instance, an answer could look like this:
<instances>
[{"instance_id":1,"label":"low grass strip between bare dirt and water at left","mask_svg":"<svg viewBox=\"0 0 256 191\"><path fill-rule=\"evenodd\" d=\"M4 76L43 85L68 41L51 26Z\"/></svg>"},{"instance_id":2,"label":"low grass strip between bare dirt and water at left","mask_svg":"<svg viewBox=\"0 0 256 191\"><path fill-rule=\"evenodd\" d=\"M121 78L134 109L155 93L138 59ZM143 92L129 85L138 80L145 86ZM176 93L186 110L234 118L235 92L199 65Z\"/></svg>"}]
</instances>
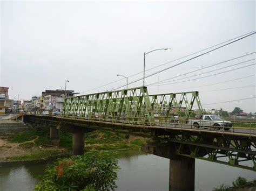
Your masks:
<instances>
[{"instance_id":1,"label":"low grass strip between bare dirt and water at left","mask_svg":"<svg viewBox=\"0 0 256 191\"><path fill-rule=\"evenodd\" d=\"M64 151L59 150L41 150L41 151L35 151L32 154L24 154L24 155L18 155L14 157L8 157L9 160L14 161L26 161L26 160L42 160L47 159L51 157L56 157L57 155L63 155L66 154Z\"/></svg>"}]
</instances>

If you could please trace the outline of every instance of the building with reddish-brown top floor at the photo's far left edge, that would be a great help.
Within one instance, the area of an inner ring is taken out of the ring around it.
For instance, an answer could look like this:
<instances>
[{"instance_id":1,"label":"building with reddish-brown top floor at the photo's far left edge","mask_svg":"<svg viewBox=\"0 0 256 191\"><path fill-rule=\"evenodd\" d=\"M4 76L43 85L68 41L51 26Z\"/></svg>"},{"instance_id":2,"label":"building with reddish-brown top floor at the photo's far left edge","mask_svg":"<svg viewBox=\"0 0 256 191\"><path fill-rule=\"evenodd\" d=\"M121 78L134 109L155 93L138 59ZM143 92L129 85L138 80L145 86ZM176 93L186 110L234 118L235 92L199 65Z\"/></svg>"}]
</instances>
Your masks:
<instances>
[{"instance_id":1,"label":"building with reddish-brown top floor at the photo's far left edge","mask_svg":"<svg viewBox=\"0 0 256 191\"><path fill-rule=\"evenodd\" d=\"M14 104L13 100L9 100L8 89L8 87L0 87L0 115L7 114Z\"/></svg>"}]
</instances>

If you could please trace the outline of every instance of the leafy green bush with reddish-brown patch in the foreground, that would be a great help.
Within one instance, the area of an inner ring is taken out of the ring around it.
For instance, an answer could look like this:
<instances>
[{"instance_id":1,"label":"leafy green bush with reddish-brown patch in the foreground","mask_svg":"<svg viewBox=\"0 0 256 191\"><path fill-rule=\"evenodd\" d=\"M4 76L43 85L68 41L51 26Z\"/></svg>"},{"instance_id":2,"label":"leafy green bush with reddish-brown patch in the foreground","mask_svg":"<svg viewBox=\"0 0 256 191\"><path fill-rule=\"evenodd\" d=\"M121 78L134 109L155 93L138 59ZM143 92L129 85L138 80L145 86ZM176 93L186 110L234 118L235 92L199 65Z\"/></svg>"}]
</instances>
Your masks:
<instances>
[{"instance_id":1,"label":"leafy green bush with reddish-brown patch in the foreground","mask_svg":"<svg viewBox=\"0 0 256 191\"><path fill-rule=\"evenodd\" d=\"M117 159L112 152L92 151L61 159L46 168L35 190L114 190Z\"/></svg>"}]
</instances>

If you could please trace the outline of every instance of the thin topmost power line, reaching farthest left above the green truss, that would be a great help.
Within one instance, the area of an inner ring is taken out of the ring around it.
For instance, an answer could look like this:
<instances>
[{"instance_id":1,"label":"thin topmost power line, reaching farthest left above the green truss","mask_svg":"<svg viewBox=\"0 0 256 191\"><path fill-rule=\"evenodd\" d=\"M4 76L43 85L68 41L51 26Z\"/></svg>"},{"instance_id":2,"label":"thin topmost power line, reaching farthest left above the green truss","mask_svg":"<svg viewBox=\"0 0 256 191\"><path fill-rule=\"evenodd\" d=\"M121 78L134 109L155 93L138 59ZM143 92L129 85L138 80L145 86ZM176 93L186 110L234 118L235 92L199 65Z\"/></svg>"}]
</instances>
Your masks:
<instances>
[{"instance_id":1,"label":"thin topmost power line, reaching farthest left above the green truss","mask_svg":"<svg viewBox=\"0 0 256 191\"><path fill-rule=\"evenodd\" d=\"M213 47L215 47L215 46L219 46L219 45L221 45L221 44L227 43L227 42L229 42L229 41L231 41L231 40L234 40L234 39L237 39L237 38L240 38L240 37L246 36L247 34L251 34L251 33L252 33L252 34L254 34L254 33L255 33L255 31L248 32L248 33L243 34L243 35L241 35L241 36L238 36L238 37L232 38L232 39L230 39L230 40L226 40L226 41L224 41L223 43L219 43L219 44L217 44L217 45L213 45L213 46L211 46L211 47L208 47L208 48L205 48L205 49L201 49L201 50L200 50L200 51L198 51L198 52L195 52L195 53L192 53L192 54L188 54L188 55L183 56L183 57L181 57L181 58L178 58L178 59L176 59L176 60L172 60L172 61L169 61L169 62L163 63L163 64L161 64L161 65L159 65L159 66L156 66L156 67L153 67L153 68L147 69L147 70L145 70L145 71L149 71L149 70L151 70L151 69L154 69L154 68L157 68L157 67L160 67L160 66L167 65L168 63L171 63L171 62L174 62L174 61L177 61L177 60L180 60L180 59L186 58L186 57L188 57L188 56L191 56L191 55L197 54L197 53L199 53L199 52L206 51L207 49L213 48ZM132 76L135 76L135 75L138 75L138 74L141 74L141 73L143 73L143 72L139 72L139 73L137 73L137 74L133 74L133 75L130 75L130 76L128 76L128 77L132 77ZM96 88L92 88L92 89L89 89L89 90L83 91L83 93L85 93L85 92L87 92L87 91L95 90L95 89L98 89L98 88L101 88L101 87L104 87L104 86L107 86L107 85L112 84L112 83L116 83L116 82L121 81L121 80L124 80L124 79L120 79L120 80L116 80L116 81L113 81L113 82L110 82L110 83L106 83L106 84L104 84L104 85L102 85L102 86L99 86L99 87L96 87ZM140 80L142 80L142 79L140 79ZM129 84L130 84L130 83L129 83Z\"/></svg>"}]
</instances>

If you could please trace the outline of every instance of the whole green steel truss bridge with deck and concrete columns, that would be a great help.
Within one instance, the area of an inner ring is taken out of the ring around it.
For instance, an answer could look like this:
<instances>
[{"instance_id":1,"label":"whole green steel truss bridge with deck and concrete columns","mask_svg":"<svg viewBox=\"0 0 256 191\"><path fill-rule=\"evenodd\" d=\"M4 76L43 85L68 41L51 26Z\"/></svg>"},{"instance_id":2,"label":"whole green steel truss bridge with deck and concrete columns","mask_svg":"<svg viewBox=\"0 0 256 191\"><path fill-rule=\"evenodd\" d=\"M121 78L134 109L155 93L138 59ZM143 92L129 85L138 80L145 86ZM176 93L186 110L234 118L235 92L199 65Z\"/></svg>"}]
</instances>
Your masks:
<instances>
[{"instance_id":1,"label":"whole green steel truss bridge with deck and concrete columns","mask_svg":"<svg viewBox=\"0 0 256 191\"><path fill-rule=\"evenodd\" d=\"M150 137L143 150L170 159L170 190L194 190L195 158L256 171L256 121L232 121L228 131L195 128L190 119L201 114L198 91L149 95L138 87L67 97L61 116L22 117L50 128L52 144L60 129L72 132L73 154L84 153L84 133L97 129Z\"/></svg>"}]
</instances>

